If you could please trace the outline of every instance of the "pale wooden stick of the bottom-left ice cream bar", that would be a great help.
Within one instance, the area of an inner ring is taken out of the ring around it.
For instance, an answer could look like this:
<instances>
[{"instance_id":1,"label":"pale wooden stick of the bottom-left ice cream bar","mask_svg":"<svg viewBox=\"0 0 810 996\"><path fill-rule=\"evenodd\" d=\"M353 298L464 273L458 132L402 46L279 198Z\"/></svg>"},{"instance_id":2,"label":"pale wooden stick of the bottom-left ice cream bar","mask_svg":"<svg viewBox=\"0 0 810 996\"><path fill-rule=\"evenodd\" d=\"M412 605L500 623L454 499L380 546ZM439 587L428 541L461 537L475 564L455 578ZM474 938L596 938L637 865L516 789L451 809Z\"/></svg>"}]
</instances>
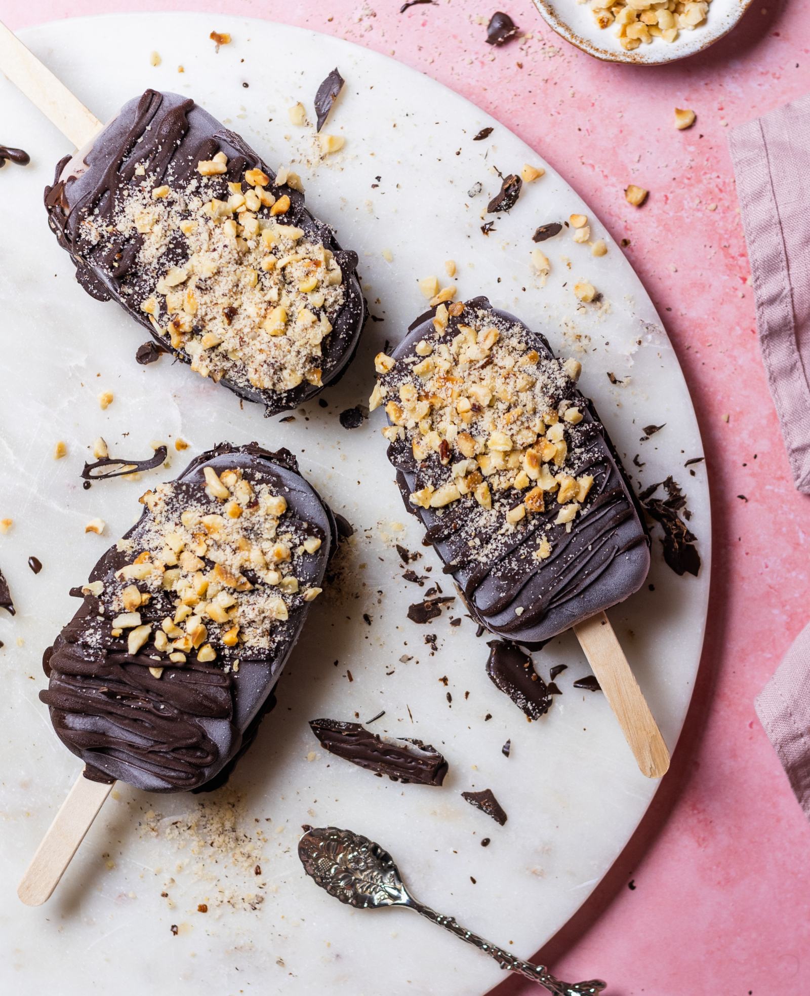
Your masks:
<instances>
[{"instance_id":1,"label":"pale wooden stick of the bottom-left ice cream bar","mask_svg":"<svg viewBox=\"0 0 810 996\"><path fill-rule=\"evenodd\" d=\"M51 897L115 784L92 782L84 775L74 782L17 886L26 905L41 906Z\"/></svg>"}]
</instances>

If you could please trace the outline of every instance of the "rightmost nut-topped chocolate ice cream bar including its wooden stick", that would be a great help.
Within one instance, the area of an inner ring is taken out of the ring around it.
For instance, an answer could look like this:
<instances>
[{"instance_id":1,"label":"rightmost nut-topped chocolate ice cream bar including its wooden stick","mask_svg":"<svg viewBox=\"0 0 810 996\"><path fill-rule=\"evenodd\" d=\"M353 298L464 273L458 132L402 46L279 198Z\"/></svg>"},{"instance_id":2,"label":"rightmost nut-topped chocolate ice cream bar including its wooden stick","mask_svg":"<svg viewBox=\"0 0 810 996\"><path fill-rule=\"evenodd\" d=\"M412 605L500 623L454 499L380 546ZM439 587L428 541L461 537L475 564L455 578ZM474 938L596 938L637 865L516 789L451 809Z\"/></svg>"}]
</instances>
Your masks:
<instances>
[{"instance_id":1,"label":"rightmost nut-topped chocolate ice cream bar including its wooden stick","mask_svg":"<svg viewBox=\"0 0 810 996\"><path fill-rule=\"evenodd\" d=\"M605 610L650 568L633 489L580 364L486 298L440 304L375 361L389 459L470 615L523 644L574 628L640 769L667 745Z\"/></svg>"}]
</instances>

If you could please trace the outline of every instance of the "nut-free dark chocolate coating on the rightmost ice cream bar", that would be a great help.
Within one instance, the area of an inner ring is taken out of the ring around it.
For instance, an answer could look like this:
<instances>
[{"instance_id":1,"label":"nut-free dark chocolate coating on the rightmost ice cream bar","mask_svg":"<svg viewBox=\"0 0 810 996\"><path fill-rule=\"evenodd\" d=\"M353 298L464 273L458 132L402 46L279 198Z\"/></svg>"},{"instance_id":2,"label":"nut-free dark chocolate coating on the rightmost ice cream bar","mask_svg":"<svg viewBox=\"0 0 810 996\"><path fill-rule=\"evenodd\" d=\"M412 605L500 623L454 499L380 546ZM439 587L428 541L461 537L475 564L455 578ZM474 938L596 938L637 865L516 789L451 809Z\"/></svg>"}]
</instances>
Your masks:
<instances>
[{"instance_id":1,"label":"nut-free dark chocolate coating on the rightmost ice cream bar","mask_svg":"<svg viewBox=\"0 0 810 996\"><path fill-rule=\"evenodd\" d=\"M492 308L486 298L468 301L465 308L487 309L495 321L520 325L526 343L541 357L553 358L544 336L513 315ZM416 344L432 333L432 314L411 327L393 353L395 360L415 356ZM448 339L462 322L463 315L450 318ZM594 477L589 504L569 533L565 525L554 524L557 509L550 503L551 508L533 515L525 528L508 538L501 556L486 563L473 558L462 528L469 502L438 509L415 507L409 495L416 486L419 464L406 440L397 440L388 449L405 508L421 520L425 538L446 565L445 573L452 575L470 615L491 632L521 643L547 640L622 602L644 584L650 568L650 538L613 444L593 404L576 388L572 397L584 415L577 428L587 436L576 473ZM451 461L458 458L450 457ZM532 554L537 536L544 532L552 553L538 560ZM483 544L490 537L480 539Z\"/></svg>"}]
</instances>

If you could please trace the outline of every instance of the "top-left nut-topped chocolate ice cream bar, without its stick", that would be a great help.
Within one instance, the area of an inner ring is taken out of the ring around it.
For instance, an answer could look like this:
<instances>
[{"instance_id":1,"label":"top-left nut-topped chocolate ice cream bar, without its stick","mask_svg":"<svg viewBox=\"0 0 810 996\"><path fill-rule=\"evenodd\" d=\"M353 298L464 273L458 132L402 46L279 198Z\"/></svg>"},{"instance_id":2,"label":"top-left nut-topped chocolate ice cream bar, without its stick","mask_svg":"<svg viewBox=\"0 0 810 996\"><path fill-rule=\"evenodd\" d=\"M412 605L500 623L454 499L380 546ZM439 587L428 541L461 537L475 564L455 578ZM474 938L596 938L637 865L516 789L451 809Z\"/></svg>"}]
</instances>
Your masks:
<instances>
[{"instance_id":1,"label":"top-left nut-topped chocolate ice cream bar, without its stick","mask_svg":"<svg viewBox=\"0 0 810 996\"><path fill-rule=\"evenodd\" d=\"M358 257L192 100L147 90L46 189L80 284L191 369L269 414L351 361L366 319Z\"/></svg>"}]
</instances>

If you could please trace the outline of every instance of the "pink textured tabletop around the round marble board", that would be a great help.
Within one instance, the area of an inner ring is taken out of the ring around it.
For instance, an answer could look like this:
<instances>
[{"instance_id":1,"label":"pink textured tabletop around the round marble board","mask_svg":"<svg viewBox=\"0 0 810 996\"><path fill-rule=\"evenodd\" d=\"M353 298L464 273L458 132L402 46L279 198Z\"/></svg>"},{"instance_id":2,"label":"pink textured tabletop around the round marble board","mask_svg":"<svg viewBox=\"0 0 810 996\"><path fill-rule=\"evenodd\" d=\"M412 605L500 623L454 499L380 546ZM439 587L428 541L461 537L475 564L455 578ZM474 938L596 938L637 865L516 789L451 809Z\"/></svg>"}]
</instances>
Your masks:
<instances>
[{"instance_id":1,"label":"pink textured tabletop around the round marble board","mask_svg":"<svg viewBox=\"0 0 810 996\"><path fill-rule=\"evenodd\" d=\"M658 69L590 59L559 40L530 0L505 9L531 37L494 51L479 18L495 0L438 0L405 14L399 6L229 0L227 10L338 35L416 67L507 124L582 191L614 237L630 239L627 254L665 317L712 488L709 627L673 769L617 866L542 956L564 977L607 978L615 996L804 994L810 827L753 697L810 616L810 508L791 486L759 360L726 134L810 91L810 0L760 0L707 53ZM21 28L155 9L209 10L215 28L222 5L4 0L0 16ZM676 131L676 106L693 109L697 124ZM651 190L641 209L624 200L629 182ZM536 991L509 980L497 993Z\"/></svg>"}]
</instances>

